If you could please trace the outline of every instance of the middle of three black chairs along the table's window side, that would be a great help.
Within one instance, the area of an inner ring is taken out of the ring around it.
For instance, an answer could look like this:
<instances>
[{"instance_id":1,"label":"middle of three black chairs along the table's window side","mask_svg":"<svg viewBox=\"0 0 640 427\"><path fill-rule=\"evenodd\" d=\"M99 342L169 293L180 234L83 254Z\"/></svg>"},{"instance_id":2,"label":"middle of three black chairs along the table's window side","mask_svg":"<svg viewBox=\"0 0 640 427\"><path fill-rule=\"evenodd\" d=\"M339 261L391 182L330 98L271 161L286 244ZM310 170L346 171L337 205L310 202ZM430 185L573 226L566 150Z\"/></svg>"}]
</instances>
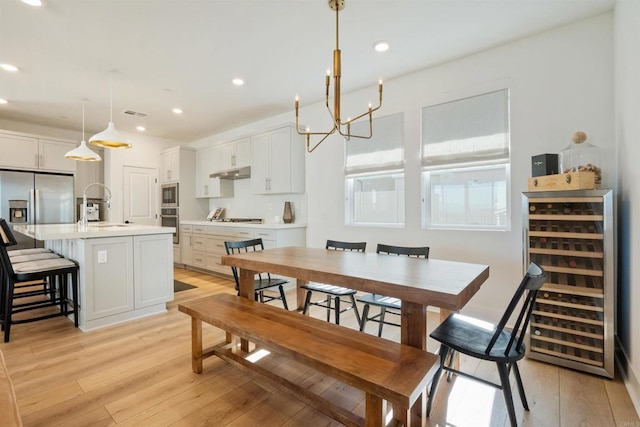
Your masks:
<instances>
[{"instance_id":1,"label":"middle of three black chairs along the table's window side","mask_svg":"<svg viewBox=\"0 0 640 427\"><path fill-rule=\"evenodd\" d=\"M367 242L341 242L338 240L327 240L325 245L326 249L336 251L352 251L352 252L364 252L367 247ZM360 325L360 312L356 305L356 290L345 288L342 286L335 286L326 283L310 282L301 286L302 289L307 291L307 296L304 301L303 314L307 314L309 307L312 305L318 307L324 307L327 310L327 322L331 321L331 311L335 313L336 325L340 324L340 314L345 311L353 310ZM321 301L312 301L311 297L314 292L318 292L326 295L326 298ZM333 305L331 304L333 302ZM346 303L345 308L341 308L341 303Z\"/></svg>"}]
</instances>

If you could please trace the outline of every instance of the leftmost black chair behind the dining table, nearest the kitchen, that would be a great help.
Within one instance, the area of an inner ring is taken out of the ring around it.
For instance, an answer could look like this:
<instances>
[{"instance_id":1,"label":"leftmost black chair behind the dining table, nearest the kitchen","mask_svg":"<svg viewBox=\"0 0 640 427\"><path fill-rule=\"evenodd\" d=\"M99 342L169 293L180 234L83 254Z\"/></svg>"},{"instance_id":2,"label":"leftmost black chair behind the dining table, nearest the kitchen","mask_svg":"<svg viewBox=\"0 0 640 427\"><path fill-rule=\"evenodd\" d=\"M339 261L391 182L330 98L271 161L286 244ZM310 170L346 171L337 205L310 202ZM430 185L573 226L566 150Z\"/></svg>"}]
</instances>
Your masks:
<instances>
[{"instance_id":1,"label":"leftmost black chair behind the dining table, nearest the kitchen","mask_svg":"<svg viewBox=\"0 0 640 427\"><path fill-rule=\"evenodd\" d=\"M246 252L256 252L264 250L262 238L242 240L239 242L224 242L224 248L227 255L234 255ZM233 278L236 281L236 291L240 291L240 276L237 267L231 267ZM289 283L286 279L272 278L269 273L258 273L258 277L253 281L254 298L256 301L269 302L273 300L281 300L285 310L289 309L287 305L287 297L284 294L284 285ZM278 288L278 294L265 293L267 290Z\"/></svg>"}]
</instances>

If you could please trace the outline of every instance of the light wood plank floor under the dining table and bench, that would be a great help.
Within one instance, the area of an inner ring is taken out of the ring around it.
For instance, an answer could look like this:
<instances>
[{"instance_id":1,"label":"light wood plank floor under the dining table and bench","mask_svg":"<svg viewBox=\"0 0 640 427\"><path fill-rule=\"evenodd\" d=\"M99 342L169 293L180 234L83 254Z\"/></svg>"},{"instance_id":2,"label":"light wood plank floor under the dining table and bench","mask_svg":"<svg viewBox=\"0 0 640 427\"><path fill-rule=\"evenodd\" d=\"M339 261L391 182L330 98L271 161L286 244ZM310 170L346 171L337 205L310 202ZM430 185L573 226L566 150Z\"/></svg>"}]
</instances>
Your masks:
<instances>
[{"instance_id":1,"label":"light wood plank floor under the dining table and bench","mask_svg":"<svg viewBox=\"0 0 640 427\"><path fill-rule=\"evenodd\" d=\"M180 302L233 292L232 282L189 270L175 277L197 286L176 293L167 313L83 333L54 318L17 325L11 342L0 344L14 382L25 426L334 426L333 420L278 393L217 358L204 373L191 371L190 320ZM295 301L293 293L289 298ZM318 309L321 310L321 309ZM312 313L322 317L324 313ZM343 323L355 327L351 313ZM438 321L429 316L430 328ZM371 324L372 331L375 324ZM398 339L398 328L385 336ZM223 338L204 325L205 342ZM436 345L429 343L435 351ZM277 363L276 363L277 364ZM282 365L285 371L290 369ZM461 366L497 380L493 365L463 358ZM640 420L620 379L605 380L531 360L520 364L530 412L516 394L522 426L639 426ZM295 371L301 381L363 411L363 396L312 372ZM508 425L501 392L454 378L442 383L427 425L483 427ZM0 414L0 425L2 414Z\"/></svg>"}]
</instances>

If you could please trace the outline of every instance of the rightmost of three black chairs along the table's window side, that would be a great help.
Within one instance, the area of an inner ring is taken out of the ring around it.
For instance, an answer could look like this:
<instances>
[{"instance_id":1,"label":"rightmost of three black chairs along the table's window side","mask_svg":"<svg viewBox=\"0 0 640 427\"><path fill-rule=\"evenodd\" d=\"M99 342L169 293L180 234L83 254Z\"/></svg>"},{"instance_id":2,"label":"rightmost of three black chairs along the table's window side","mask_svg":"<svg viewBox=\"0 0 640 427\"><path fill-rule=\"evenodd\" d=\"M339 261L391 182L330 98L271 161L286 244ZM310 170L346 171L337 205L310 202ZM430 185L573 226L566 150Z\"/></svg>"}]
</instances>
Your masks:
<instances>
[{"instance_id":1,"label":"rightmost of three black chairs along the table's window side","mask_svg":"<svg viewBox=\"0 0 640 427\"><path fill-rule=\"evenodd\" d=\"M378 244L376 252L379 254L402 255L411 258L429 258L428 246L407 247ZM358 297L358 302L364 304L364 307L362 308L362 318L360 321L360 332L364 332L364 328L367 325L367 322L370 321L378 322L379 337L382 336L382 327L384 325L400 327L399 323L386 320L387 314L400 316L400 310L402 308L400 299L379 294L364 294ZM369 316L369 311L372 306L380 308L380 312L378 314Z\"/></svg>"}]
</instances>

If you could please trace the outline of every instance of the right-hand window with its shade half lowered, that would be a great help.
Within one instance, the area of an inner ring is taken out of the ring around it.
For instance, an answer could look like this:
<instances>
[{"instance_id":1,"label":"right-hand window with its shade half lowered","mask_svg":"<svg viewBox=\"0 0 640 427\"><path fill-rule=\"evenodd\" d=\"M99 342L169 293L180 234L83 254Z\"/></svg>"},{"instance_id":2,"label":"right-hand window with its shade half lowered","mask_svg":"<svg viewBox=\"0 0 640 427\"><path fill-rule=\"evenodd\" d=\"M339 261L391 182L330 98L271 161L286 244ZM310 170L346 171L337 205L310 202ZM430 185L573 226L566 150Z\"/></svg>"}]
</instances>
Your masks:
<instances>
[{"instance_id":1,"label":"right-hand window with its shade half lowered","mask_svg":"<svg viewBox=\"0 0 640 427\"><path fill-rule=\"evenodd\" d=\"M507 89L422 109L423 226L507 230Z\"/></svg>"}]
</instances>

